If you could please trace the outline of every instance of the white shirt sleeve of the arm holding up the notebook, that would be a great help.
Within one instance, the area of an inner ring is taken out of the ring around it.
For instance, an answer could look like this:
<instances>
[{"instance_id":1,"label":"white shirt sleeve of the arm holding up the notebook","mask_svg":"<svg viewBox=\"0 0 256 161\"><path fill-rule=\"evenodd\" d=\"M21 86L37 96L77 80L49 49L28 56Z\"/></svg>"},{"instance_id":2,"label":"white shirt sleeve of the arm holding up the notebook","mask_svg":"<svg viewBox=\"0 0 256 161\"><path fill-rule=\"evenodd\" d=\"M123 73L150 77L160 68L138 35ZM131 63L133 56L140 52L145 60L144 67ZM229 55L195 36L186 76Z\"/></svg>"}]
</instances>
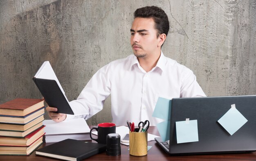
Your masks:
<instances>
[{"instance_id":1,"label":"white shirt sleeve of the arm holding up the notebook","mask_svg":"<svg viewBox=\"0 0 256 161\"><path fill-rule=\"evenodd\" d=\"M102 67L92 76L76 100L70 102L74 115L67 115L65 120L72 118L88 118L102 110L103 104L110 95L110 64Z\"/></svg>"}]
</instances>

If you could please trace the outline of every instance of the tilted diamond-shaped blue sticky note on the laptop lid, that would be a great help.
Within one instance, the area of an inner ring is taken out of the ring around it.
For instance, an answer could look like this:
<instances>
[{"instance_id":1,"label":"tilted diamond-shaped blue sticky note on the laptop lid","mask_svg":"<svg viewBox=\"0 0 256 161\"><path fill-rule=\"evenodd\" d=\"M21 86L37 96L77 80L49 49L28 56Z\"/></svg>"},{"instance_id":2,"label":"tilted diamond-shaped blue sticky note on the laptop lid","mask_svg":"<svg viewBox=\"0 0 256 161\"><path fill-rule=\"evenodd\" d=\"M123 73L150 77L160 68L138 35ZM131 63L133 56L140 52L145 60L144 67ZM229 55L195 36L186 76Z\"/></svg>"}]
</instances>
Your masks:
<instances>
[{"instance_id":1,"label":"tilted diamond-shaped blue sticky note on the laptop lid","mask_svg":"<svg viewBox=\"0 0 256 161\"><path fill-rule=\"evenodd\" d=\"M232 104L231 109L223 115L218 122L227 130L230 135L233 135L241 128L248 120L236 109L236 105Z\"/></svg>"}]
</instances>

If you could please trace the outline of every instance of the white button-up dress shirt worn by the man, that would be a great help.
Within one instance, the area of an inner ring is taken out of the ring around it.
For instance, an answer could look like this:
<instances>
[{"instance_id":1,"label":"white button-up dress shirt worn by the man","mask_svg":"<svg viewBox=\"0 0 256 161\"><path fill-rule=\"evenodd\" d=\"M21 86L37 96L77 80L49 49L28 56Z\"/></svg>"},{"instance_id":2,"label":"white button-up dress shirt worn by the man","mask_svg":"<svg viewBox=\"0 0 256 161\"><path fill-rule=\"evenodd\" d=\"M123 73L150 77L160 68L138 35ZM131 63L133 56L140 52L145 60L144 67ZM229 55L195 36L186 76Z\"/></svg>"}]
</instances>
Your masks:
<instances>
[{"instance_id":1,"label":"white button-up dress shirt worn by the man","mask_svg":"<svg viewBox=\"0 0 256 161\"><path fill-rule=\"evenodd\" d=\"M73 117L88 119L101 111L105 99L111 94L112 122L127 125L149 120L156 126L162 119L152 117L158 97L179 98L205 96L193 72L167 58L161 52L157 65L145 72L135 55L112 61L92 76L77 100L70 102Z\"/></svg>"}]
</instances>

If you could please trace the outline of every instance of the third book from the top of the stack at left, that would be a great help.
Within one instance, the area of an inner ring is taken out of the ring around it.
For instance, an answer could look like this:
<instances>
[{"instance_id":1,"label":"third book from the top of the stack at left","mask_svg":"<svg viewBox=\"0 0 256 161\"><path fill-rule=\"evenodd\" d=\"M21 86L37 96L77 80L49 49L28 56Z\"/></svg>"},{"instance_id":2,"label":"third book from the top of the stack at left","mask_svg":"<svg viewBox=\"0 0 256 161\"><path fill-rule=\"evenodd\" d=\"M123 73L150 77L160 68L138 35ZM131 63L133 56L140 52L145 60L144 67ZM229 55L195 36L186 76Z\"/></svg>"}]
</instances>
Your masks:
<instances>
[{"instance_id":1,"label":"third book from the top of the stack at left","mask_svg":"<svg viewBox=\"0 0 256 161\"><path fill-rule=\"evenodd\" d=\"M27 123L27 124L6 124L6 123L0 123L0 130L4 131L26 131L27 129L31 128L32 126L38 124L41 122L43 125L44 116L41 115L37 117L35 120Z\"/></svg>"}]
</instances>

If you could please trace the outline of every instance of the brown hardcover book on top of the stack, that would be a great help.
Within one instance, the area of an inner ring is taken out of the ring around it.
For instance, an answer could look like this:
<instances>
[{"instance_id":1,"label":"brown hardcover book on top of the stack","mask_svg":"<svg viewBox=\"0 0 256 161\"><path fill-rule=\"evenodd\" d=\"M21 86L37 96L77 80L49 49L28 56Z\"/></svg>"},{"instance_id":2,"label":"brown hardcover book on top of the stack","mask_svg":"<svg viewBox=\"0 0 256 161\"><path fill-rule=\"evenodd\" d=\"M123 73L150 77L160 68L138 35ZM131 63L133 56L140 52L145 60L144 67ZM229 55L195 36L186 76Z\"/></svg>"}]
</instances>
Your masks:
<instances>
[{"instance_id":1,"label":"brown hardcover book on top of the stack","mask_svg":"<svg viewBox=\"0 0 256 161\"><path fill-rule=\"evenodd\" d=\"M44 107L41 99L16 98L0 104L0 115L25 116Z\"/></svg>"}]
</instances>

